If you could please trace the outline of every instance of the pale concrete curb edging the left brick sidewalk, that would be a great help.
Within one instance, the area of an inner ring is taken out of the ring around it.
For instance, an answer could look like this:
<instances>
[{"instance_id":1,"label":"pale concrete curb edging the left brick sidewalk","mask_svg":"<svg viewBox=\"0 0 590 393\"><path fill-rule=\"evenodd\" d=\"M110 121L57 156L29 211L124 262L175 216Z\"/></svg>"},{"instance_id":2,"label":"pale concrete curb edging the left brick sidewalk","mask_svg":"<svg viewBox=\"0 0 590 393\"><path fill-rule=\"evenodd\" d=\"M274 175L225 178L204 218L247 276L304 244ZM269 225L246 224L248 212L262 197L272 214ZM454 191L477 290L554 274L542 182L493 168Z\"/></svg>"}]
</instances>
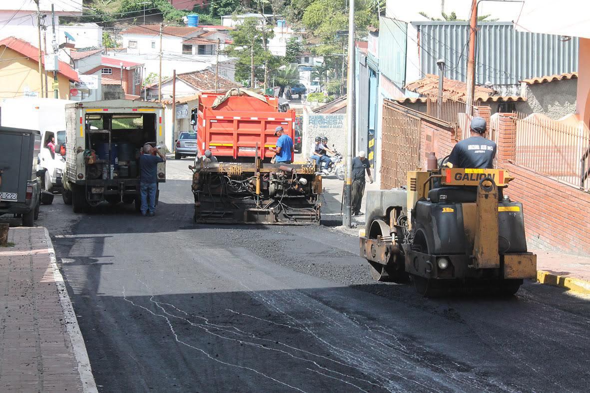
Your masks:
<instances>
[{"instance_id":1,"label":"pale concrete curb edging the left brick sidewalk","mask_svg":"<svg viewBox=\"0 0 590 393\"><path fill-rule=\"evenodd\" d=\"M53 242L51 241L47 228L43 229L45 230L45 240L47 240L50 268L53 270L53 279L57 285L57 292L60 294L61 310L63 310L64 313L65 326L68 330L68 335L70 336L74 356L78 362L78 373L80 374L82 389L84 393L97 393L98 389L96 388L96 382L94 382L94 375L92 374L88 352L86 352L84 338L80 332L80 326L78 326L76 313L74 312L74 307L72 306L70 296L68 295L68 290L65 287L64 278L61 276L60 269L57 267Z\"/></svg>"}]
</instances>

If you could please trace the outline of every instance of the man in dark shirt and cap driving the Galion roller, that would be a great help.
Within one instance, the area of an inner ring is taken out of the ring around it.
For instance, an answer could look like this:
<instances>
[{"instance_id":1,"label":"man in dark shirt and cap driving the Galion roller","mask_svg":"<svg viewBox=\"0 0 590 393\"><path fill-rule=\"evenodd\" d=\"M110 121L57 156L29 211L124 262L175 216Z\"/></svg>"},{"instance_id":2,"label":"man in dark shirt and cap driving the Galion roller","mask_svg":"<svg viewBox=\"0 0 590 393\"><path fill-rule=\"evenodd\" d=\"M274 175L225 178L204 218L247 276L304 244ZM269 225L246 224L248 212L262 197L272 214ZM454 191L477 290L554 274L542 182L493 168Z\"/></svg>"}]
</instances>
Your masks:
<instances>
[{"instance_id":1,"label":"man in dark shirt and cap driving the Galion roller","mask_svg":"<svg viewBox=\"0 0 590 393\"><path fill-rule=\"evenodd\" d=\"M496 157L496 143L484 138L486 132L486 120L483 117L474 117L471 120L471 137L455 143L448 162L453 168L494 168Z\"/></svg>"}]
</instances>

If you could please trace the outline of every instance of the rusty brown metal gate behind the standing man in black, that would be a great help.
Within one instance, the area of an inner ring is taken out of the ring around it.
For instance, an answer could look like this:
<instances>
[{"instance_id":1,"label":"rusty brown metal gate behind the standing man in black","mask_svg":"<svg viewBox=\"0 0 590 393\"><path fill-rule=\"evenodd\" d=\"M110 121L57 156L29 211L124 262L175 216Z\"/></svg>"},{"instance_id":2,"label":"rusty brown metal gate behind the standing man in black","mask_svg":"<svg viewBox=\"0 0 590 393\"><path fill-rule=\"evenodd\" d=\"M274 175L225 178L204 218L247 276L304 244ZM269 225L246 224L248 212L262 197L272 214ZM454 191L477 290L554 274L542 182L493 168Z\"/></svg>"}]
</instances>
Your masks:
<instances>
[{"instance_id":1,"label":"rusty brown metal gate behind the standing man in black","mask_svg":"<svg viewBox=\"0 0 590 393\"><path fill-rule=\"evenodd\" d=\"M420 165L421 120L392 101L383 101L381 189L406 184Z\"/></svg>"}]
</instances>

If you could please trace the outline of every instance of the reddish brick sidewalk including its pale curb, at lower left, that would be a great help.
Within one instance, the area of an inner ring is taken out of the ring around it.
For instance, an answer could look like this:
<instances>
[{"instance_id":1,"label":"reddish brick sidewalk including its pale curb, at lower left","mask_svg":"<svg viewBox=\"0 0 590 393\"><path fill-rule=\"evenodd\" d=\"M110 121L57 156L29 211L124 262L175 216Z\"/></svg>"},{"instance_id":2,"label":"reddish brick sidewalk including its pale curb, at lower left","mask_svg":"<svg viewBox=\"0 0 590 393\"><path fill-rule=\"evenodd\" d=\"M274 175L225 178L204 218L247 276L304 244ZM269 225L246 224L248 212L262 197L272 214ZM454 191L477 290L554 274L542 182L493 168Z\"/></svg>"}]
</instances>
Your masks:
<instances>
[{"instance_id":1,"label":"reddish brick sidewalk including its pale curb, at lower left","mask_svg":"<svg viewBox=\"0 0 590 393\"><path fill-rule=\"evenodd\" d=\"M0 248L0 391L96 391L47 230L11 228L8 241L15 246Z\"/></svg>"}]
</instances>

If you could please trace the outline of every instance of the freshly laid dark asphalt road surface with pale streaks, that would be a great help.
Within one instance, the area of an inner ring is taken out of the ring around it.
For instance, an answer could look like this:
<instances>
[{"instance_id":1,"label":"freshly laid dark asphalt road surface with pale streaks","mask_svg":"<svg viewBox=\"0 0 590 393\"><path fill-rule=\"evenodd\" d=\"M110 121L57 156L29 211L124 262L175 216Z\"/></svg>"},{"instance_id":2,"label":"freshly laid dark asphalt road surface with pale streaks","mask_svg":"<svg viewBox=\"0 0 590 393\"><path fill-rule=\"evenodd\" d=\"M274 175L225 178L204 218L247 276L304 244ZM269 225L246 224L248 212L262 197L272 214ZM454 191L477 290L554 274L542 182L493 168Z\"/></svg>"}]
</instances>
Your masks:
<instances>
[{"instance_id":1,"label":"freshly laid dark asphalt road surface with pale streaks","mask_svg":"<svg viewBox=\"0 0 590 393\"><path fill-rule=\"evenodd\" d=\"M42 207L101 391L588 389L590 299L428 300L330 227L194 225L188 163L155 218Z\"/></svg>"}]
</instances>

